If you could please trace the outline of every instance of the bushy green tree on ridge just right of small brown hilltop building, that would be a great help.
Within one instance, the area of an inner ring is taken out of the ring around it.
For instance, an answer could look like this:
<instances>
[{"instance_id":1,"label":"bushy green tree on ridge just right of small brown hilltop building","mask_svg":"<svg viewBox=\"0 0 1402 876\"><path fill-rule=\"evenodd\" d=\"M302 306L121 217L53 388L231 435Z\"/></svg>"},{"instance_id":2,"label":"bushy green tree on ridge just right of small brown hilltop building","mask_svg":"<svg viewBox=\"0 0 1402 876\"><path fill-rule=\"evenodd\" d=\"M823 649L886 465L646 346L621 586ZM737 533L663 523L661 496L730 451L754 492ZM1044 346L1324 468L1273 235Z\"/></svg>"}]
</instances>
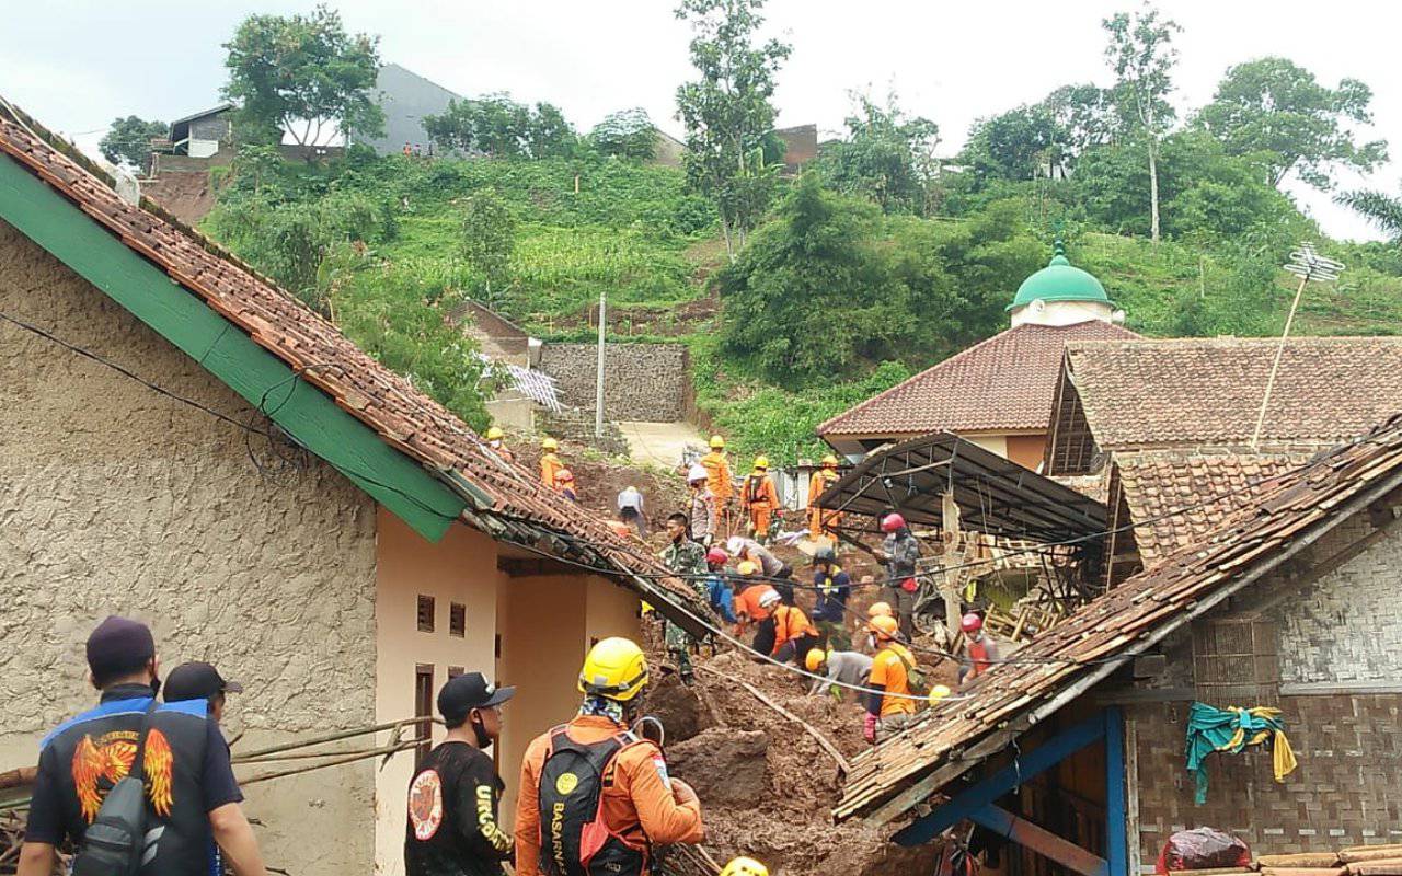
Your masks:
<instances>
[{"instance_id":1,"label":"bushy green tree on ridge just right of small brown hilltop building","mask_svg":"<svg viewBox=\"0 0 1402 876\"><path fill-rule=\"evenodd\" d=\"M854 94L847 139L824 147L823 178L834 189L875 200L887 213L924 214L930 207L939 128L925 118L907 118L890 95L880 107Z\"/></svg>"}]
</instances>

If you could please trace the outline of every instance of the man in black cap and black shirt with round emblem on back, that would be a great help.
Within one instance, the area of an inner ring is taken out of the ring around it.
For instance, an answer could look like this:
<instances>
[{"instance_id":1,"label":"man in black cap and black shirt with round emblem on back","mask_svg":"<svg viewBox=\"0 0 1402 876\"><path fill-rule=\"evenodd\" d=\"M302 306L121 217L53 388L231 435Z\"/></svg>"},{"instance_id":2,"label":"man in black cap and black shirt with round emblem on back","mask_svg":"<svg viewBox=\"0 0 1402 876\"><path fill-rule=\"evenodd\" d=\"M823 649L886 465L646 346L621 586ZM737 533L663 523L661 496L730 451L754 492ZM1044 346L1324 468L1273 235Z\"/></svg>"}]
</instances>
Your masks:
<instances>
[{"instance_id":1,"label":"man in black cap and black shirt with round emblem on back","mask_svg":"<svg viewBox=\"0 0 1402 876\"><path fill-rule=\"evenodd\" d=\"M447 739L409 782L408 876L502 876L502 862L512 859L515 840L498 823L506 785L482 748L501 736L501 705L515 692L494 688L481 673L450 678L439 691Z\"/></svg>"}]
</instances>

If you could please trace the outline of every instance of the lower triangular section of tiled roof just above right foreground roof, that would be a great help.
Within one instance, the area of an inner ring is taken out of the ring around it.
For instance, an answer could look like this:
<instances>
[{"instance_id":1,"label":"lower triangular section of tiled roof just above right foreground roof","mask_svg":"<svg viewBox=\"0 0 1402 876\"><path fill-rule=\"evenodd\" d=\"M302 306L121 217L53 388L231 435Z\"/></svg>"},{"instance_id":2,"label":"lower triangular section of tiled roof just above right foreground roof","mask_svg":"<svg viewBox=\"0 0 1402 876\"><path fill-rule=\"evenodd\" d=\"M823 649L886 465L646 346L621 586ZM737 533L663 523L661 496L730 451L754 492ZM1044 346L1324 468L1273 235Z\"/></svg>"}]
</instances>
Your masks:
<instances>
[{"instance_id":1,"label":"lower triangular section of tiled roof just above right foreground roof","mask_svg":"<svg viewBox=\"0 0 1402 876\"><path fill-rule=\"evenodd\" d=\"M1248 505L1259 485L1309 461L1284 453L1117 453L1120 485L1145 568L1187 547Z\"/></svg>"}]
</instances>

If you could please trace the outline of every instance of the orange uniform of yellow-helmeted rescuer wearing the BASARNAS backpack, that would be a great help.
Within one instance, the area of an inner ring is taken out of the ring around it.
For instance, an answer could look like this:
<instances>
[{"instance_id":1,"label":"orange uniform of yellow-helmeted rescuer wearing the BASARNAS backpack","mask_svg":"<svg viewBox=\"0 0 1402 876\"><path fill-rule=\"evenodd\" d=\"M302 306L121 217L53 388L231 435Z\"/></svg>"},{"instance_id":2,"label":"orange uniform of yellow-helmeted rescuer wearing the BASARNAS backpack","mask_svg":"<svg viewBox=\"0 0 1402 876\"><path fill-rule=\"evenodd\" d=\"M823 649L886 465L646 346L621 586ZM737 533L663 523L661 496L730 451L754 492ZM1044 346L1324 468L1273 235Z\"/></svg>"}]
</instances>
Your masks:
<instances>
[{"instance_id":1,"label":"orange uniform of yellow-helmeted rescuer wearing the BASARNAS backpack","mask_svg":"<svg viewBox=\"0 0 1402 876\"><path fill-rule=\"evenodd\" d=\"M607 718L576 716L566 725L569 739L590 744L625 732ZM516 876L540 876L540 772L550 753L550 733L537 736L522 761L516 802ZM662 750L651 741L624 747L604 775L606 824L634 848L701 842L701 803L688 786L666 776ZM680 791L683 789L684 791Z\"/></svg>"}]
</instances>

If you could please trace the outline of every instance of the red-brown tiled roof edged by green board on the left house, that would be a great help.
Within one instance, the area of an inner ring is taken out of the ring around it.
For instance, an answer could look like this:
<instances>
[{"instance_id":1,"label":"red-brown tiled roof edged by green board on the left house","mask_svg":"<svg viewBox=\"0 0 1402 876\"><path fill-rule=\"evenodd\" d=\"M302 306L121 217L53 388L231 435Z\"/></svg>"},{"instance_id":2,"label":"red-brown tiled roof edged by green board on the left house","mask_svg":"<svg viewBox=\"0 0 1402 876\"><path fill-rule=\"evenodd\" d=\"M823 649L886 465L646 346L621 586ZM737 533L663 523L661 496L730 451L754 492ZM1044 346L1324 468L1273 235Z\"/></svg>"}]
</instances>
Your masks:
<instances>
[{"instance_id":1,"label":"red-brown tiled roof edged by green board on the left house","mask_svg":"<svg viewBox=\"0 0 1402 876\"><path fill-rule=\"evenodd\" d=\"M272 280L154 205L126 205L91 163L31 135L29 129L39 130L31 121L25 119L25 125L28 129L0 111L0 154L18 161L247 332L384 443L435 472L454 471L485 493L489 507L470 505L464 512L468 523L503 541L585 547L614 566L632 589L652 591L651 582L663 580L691 603L691 587L663 577L666 569L655 558L621 540L603 520L543 488L524 468L503 463L450 411L372 359ZM665 601L659 610L670 612Z\"/></svg>"}]
</instances>

